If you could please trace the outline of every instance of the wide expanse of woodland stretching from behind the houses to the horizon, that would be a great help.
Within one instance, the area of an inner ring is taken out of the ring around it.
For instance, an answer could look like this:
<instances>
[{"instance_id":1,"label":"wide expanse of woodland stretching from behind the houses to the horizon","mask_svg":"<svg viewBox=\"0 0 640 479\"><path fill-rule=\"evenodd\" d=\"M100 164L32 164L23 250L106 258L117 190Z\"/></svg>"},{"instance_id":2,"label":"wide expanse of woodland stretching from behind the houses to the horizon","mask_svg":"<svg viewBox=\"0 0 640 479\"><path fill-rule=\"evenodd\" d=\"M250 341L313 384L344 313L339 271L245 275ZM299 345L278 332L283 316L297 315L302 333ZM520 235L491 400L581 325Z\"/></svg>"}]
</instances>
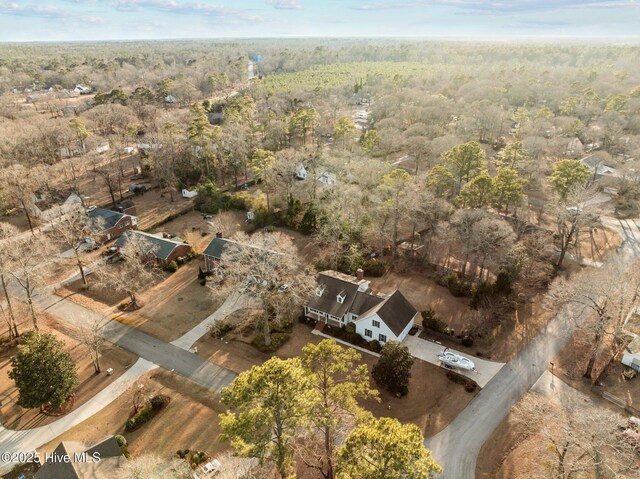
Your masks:
<instances>
[{"instance_id":1,"label":"wide expanse of woodland stretching from behind the houses to the horizon","mask_svg":"<svg viewBox=\"0 0 640 479\"><path fill-rule=\"evenodd\" d=\"M172 195L197 187L203 212L245 208L256 226L315 235L318 267L379 274L379 259L404 249L456 294L506 277L537 287L581 257L581 242L598 248L583 206L607 184L577 160L615 168L617 212L637 211L637 55L385 40L7 44L2 207L26 212L31 192L85 173L115 202L130 161ZM140 156L123 153L132 145ZM297 180L301 166L320 181ZM249 180L260 188L230 192Z\"/></svg>"}]
</instances>

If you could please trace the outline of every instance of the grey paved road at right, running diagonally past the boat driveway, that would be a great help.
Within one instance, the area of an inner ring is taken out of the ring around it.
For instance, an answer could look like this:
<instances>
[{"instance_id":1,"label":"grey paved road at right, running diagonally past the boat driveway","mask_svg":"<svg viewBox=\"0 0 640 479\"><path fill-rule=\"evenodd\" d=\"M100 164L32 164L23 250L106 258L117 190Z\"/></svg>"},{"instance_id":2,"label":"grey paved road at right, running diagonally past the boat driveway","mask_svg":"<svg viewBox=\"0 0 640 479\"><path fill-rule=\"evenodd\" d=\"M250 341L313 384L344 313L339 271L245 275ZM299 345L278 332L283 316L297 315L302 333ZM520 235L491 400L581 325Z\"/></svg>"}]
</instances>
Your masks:
<instances>
[{"instance_id":1,"label":"grey paved road at right, running diagonally past the boat driveway","mask_svg":"<svg viewBox=\"0 0 640 479\"><path fill-rule=\"evenodd\" d=\"M640 256L640 220L602 217L602 223L620 233L622 252ZM569 317L568 309L563 309L446 429L425 439L425 446L442 466L439 479L475 479L476 458L482 445L573 334L575 322Z\"/></svg>"}]
</instances>

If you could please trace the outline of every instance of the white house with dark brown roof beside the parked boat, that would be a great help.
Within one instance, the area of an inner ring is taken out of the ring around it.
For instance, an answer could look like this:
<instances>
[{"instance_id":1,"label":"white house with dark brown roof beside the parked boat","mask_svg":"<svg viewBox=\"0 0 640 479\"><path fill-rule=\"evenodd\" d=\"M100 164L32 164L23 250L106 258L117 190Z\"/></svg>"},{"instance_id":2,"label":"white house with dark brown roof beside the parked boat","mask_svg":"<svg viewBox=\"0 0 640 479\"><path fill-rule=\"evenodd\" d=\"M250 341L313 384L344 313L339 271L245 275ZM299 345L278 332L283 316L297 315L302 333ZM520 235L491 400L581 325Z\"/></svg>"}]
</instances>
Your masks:
<instances>
[{"instance_id":1,"label":"white house with dark brown roof beside the parked boat","mask_svg":"<svg viewBox=\"0 0 640 479\"><path fill-rule=\"evenodd\" d=\"M336 327L354 323L367 341L402 341L415 324L418 311L399 291L374 294L362 270L358 276L336 271L318 274L315 293L304 307L307 318Z\"/></svg>"}]
</instances>

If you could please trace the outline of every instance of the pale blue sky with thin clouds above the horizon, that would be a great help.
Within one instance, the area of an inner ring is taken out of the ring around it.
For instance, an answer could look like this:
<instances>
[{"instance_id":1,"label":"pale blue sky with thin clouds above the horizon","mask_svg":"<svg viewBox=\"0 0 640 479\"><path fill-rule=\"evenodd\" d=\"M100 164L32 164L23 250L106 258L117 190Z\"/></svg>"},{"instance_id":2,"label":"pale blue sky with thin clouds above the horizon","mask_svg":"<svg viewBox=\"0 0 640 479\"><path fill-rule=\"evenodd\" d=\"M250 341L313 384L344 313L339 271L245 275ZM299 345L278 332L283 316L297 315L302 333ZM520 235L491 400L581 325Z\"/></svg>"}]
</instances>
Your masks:
<instances>
[{"instance_id":1,"label":"pale blue sky with thin clouds above the horizon","mask_svg":"<svg viewBox=\"0 0 640 479\"><path fill-rule=\"evenodd\" d=\"M0 41L640 38L640 0L0 0Z\"/></svg>"}]
</instances>

